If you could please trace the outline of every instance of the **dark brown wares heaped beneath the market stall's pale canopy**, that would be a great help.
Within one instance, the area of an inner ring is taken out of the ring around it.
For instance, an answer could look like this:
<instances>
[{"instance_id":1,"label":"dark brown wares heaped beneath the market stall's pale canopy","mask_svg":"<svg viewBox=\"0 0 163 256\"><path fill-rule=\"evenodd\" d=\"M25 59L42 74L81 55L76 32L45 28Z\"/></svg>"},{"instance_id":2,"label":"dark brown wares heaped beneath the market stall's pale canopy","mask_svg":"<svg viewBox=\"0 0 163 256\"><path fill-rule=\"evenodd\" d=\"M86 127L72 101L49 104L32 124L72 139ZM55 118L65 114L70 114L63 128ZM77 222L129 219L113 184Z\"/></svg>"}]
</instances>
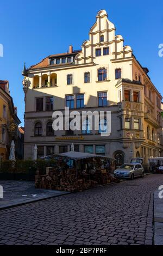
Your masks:
<instances>
[{"instance_id":1,"label":"dark brown wares heaped beneath the market stall's pale canopy","mask_svg":"<svg viewBox=\"0 0 163 256\"><path fill-rule=\"evenodd\" d=\"M76 169L49 168L47 174L41 175L37 169L35 175L35 188L81 192L90 187L108 184L116 179L105 170L97 169L95 173L78 173Z\"/></svg>"}]
</instances>

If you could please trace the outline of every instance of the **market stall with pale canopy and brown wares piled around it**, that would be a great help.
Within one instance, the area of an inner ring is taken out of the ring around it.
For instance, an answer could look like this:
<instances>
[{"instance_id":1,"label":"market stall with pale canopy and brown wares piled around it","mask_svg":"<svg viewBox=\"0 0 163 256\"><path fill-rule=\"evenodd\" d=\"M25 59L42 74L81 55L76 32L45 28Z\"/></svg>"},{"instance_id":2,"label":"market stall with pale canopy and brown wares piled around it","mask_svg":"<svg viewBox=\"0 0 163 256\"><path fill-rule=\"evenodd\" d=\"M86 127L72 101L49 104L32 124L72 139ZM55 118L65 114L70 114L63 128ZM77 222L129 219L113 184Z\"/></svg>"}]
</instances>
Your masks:
<instances>
[{"instance_id":1,"label":"market stall with pale canopy and brown wares piled around it","mask_svg":"<svg viewBox=\"0 0 163 256\"><path fill-rule=\"evenodd\" d=\"M44 175L37 170L36 188L73 192L116 181L111 175L115 167L114 159L75 151L49 157L56 160L56 166L47 168Z\"/></svg>"}]
</instances>

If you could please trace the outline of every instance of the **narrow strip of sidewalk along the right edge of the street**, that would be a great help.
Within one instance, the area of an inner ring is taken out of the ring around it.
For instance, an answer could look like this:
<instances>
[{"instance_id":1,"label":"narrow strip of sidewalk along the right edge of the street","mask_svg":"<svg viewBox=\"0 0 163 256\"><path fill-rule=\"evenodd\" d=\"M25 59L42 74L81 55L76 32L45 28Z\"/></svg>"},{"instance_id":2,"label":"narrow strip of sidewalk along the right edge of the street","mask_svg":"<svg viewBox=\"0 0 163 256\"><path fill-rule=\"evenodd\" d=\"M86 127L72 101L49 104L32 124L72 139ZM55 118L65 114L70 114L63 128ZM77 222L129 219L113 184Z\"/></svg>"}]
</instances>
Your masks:
<instances>
[{"instance_id":1,"label":"narrow strip of sidewalk along the right edge of the street","mask_svg":"<svg viewBox=\"0 0 163 256\"><path fill-rule=\"evenodd\" d=\"M154 192L154 245L163 245L163 198L159 192Z\"/></svg>"}]
</instances>

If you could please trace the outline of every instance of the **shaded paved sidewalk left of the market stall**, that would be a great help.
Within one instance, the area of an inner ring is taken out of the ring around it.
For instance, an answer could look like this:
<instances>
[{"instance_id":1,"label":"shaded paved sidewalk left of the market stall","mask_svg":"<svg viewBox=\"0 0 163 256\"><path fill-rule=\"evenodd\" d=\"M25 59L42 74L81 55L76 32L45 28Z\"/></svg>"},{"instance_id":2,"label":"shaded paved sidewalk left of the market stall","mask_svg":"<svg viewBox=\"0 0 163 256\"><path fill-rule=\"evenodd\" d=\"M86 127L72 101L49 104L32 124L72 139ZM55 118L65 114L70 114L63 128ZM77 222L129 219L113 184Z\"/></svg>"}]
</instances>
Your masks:
<instances>
[{"instance_id":1,"label":"shaded paved sidewalk left of the market stall","mask_svg":"<svg viewBox=\"0 0 163 256\"><path fill-rule=\"evenodd\" d=\"M70 193L35 188L34 181L0 180L0 185L3 186L0 210Z\"/></svg>"}]
</instances>

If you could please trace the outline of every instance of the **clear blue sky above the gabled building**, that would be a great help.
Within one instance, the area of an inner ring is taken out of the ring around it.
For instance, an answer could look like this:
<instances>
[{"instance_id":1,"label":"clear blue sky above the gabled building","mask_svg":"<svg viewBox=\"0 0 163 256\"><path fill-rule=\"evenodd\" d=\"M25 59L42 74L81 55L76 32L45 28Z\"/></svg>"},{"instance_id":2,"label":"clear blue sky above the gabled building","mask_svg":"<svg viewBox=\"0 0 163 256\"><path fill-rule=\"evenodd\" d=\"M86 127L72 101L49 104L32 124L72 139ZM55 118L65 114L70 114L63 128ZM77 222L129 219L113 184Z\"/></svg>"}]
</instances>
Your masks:
<instances>
[{"instance_id":1,"label":"clear blue sky above the gabled building","mask_svg":"<svg viewBox=\"0 0 163 256\"><path fill-rule=\"evenodd\" d=\"M137 60L148 67L152 82L163 95L163 57L158 56L158 46L163 44L162 0L1 0L0 44L4 46L4 57L0 57L0 80L9 80L22 125L23 62L28 67L49 54L66 52L70 44L79 49L89 39L89 29L101 9L107 11L124 44L130 45Z\"/></svg>"}]
</instances>

